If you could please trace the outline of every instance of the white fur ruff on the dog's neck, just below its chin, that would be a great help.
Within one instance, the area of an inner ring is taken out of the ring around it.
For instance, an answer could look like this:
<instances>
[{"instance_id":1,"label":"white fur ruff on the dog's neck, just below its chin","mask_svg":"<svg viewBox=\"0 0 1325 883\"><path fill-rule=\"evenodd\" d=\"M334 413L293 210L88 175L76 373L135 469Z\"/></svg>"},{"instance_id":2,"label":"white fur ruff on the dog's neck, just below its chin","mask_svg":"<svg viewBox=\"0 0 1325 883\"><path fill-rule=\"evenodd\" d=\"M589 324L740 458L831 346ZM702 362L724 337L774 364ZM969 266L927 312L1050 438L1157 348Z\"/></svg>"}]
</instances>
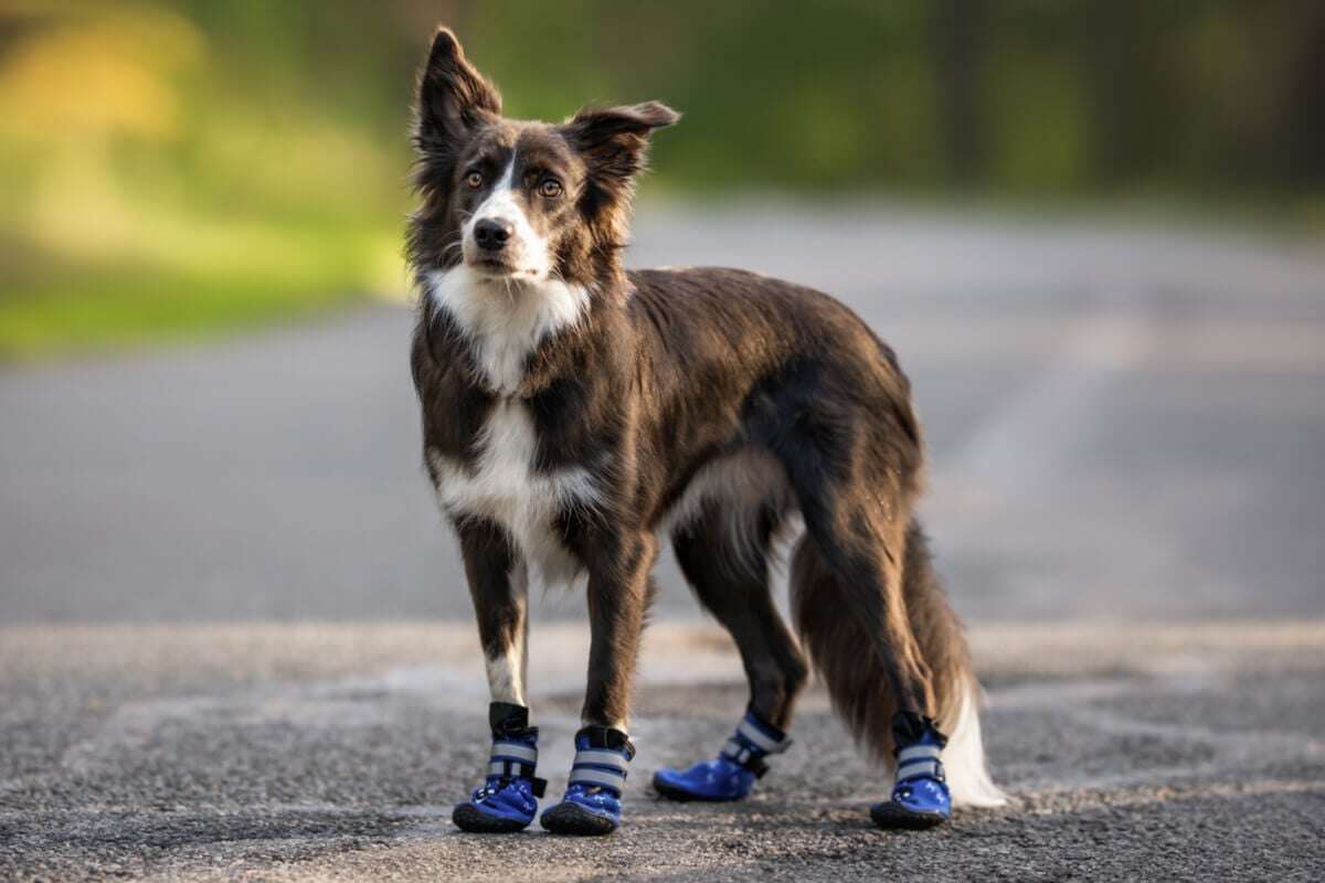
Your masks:
<instances>
[{"instance_id":1,"label":"white fur ruff on the dog's neck, just below its chin","mask_svg":"<svg viewBox=\"0 0 1325 883\"><path fill-rule=\"evenodd\" d=\"M427 274L425 297L450 318L481 385L498 396L519 392L530 356L580 324L592 306L583 285L485 277L465 265Z\"/></svg>"}]
</instances>

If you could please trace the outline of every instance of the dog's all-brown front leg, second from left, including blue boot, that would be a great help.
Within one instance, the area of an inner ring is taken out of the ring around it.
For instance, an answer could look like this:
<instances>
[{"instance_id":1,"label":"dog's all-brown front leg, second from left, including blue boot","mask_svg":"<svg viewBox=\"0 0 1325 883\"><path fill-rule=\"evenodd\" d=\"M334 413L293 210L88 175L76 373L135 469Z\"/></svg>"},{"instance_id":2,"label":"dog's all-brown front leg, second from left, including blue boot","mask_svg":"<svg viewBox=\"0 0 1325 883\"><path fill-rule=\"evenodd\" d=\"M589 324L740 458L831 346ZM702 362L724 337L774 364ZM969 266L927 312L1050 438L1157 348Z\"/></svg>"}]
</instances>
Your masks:
<instances>
[{"instance_id":1,"label":"dog's all-brown front leg, second from left, including blue boot","mask_svg":"<svg viewBox=\"0 0 1325 883\"><path fill-rule=\"evenodd\" d=\"M588 687L566 797L542 817L543 827L554 834L616 830L627 768L635 757L627 735L631 678L653 597L657 540L647 534L617 534L590 548Z\"/></svg>"}]
</instances>

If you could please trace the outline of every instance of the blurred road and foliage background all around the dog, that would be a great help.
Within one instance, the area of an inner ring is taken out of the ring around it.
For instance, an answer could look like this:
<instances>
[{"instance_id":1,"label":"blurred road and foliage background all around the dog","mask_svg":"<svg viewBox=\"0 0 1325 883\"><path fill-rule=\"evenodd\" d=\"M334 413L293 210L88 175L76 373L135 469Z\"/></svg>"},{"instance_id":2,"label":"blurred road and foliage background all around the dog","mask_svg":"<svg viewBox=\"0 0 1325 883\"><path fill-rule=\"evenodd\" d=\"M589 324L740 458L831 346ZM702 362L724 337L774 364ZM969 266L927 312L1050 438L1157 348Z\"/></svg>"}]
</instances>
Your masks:
<instances>
[{"instance_id":1,"label":"blurred road and foliage background all around the dog","mask_svg":"<svg viewBox=\"0 0 1325 883\"><path fill-rule=\"evenodd\" d=\"M753 805L649 800L746 698L669 552L628 826L453 835L488 691L401 265L439 23L511 115L685 113L628 265L900 355L1015 798L928 868L1320 876L1321 0L0 0L0 879L914 874L822 691ZM551 794L588 634L533 594Z\"/></svg>"}]
</instances>

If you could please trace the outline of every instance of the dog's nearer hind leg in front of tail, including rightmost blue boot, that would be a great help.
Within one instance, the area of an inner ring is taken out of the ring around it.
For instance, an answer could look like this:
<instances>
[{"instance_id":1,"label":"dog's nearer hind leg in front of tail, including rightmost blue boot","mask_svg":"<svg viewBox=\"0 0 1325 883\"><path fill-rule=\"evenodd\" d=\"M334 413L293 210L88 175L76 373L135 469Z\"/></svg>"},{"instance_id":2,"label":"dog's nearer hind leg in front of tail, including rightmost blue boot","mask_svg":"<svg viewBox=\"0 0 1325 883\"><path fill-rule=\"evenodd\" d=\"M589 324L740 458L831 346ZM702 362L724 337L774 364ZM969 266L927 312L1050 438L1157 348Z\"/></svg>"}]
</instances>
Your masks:
<instances>
[{"instance_id":1,"label":"dog's nearer hind leg in front of tail, including rightmost blue boot","mask_svg":"<svg viewBox=\"0 0 1325 883\"><path fill-rule=\"evenodd\" d=\"M929 657L937 654L917 641L904 582L908 543L918 537L910 519L918 455L905 455L916 449L886 425L836 417L804 421L791 436L800 450L788 474L807 531L792 561L792 605L848 727L874 756L893 755L892 798L872 808L874 822L929 827L951 815L951 793L935 723L942 684Z\"/></svg>"}]
</instances>

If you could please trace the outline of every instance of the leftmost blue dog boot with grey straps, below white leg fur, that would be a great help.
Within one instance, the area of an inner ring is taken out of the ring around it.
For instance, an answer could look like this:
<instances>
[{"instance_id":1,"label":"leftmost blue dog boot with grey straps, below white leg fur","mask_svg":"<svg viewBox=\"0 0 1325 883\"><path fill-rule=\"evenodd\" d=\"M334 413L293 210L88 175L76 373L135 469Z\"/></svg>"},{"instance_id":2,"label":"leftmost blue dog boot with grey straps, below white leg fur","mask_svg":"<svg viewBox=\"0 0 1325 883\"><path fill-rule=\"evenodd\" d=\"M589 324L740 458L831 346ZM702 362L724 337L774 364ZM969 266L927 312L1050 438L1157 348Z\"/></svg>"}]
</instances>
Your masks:
<instances>
[{"instance_id":1,"label":"leftmost blue dog boot with grey straps, below white leg fur","mask_svg":"<svg viewBox=\"0 0 1325 883\"><path fill-rule=\"evenodd\" d=\"M494 702L488 710L493 752L488 778L450 814L461 830L477 834L519 831L534 821L547 782L535 778L538 727L529 725L529 708Z\"/></svg>"}]
</instances>

